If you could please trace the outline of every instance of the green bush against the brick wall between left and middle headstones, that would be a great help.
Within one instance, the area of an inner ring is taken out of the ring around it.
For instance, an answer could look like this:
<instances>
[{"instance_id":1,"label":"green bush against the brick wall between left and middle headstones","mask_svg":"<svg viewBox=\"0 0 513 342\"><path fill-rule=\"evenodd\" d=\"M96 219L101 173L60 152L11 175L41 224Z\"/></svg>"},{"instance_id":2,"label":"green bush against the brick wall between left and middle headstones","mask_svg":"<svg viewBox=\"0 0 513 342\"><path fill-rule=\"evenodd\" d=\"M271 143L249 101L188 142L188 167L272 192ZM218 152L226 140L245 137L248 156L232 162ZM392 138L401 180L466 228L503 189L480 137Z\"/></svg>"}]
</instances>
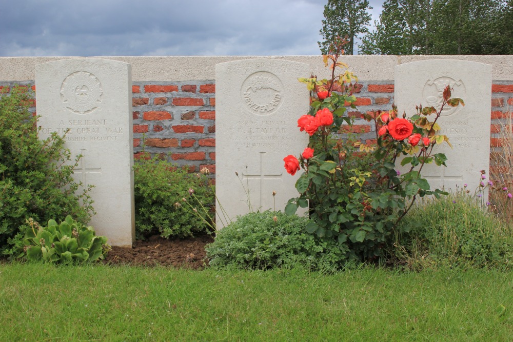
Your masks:
<instances>
[{"instance_id":1,"label":"green bush against the brick wall between left and middle headstones","mask_svg":"<svg viewBox=\"0 0 513 342\"><path fill-rule=\"evenodd\" d=\"M202 173L191 174L159 155L143 154L134 165L135 233L141 239L160 234L164 238L186 237L204 231L208 225L185 205L214 203L213 189Z\"/></svg>"}]
</instances>

